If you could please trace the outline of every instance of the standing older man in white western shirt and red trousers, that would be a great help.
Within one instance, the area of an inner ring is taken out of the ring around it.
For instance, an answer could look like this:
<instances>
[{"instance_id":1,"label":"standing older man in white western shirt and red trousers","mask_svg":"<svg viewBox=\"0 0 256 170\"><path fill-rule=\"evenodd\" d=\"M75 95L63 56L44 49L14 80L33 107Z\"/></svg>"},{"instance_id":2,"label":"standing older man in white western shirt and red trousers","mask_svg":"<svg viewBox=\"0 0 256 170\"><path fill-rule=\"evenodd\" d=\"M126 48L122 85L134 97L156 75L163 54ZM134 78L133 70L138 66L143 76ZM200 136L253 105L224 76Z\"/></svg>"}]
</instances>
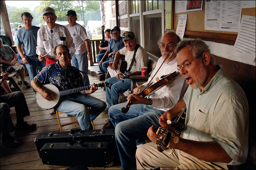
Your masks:
<instances>
[{"instance_id":1,"label":"standing older man in white western shirt and red trousers","mask_svg":"<svg viewBox=\"0 0 256 170\"><path fill-rule=\"evenodd\" d=\"M59 44L66 45L72 57L75 53L73 38L66 27L55 24L57 16L55 15L54 9L51 7L43 9L43 19L47 25L44 25L37 32L38 60L43 61L46 58L45 65L55 63L56 60L54 59L53 49Z\"/></svg>"}]
</instances>

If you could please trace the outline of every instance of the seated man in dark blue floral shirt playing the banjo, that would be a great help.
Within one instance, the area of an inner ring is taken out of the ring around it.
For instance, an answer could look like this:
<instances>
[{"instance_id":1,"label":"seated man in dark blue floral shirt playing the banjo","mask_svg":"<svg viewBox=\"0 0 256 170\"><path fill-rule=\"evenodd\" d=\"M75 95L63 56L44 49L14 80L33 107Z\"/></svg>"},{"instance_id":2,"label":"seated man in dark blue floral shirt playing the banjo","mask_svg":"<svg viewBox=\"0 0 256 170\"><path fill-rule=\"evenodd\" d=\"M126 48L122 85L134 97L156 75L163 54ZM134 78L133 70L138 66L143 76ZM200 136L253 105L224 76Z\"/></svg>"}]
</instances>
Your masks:
<instances>
[{"instance_id":1,"label":"seated man in dark blue floral shirt playing the banjo","mask_svg":"<svg viewBox=\"0 0 256 170\"><path fill-rule=\"evenodd\" d=\"M47 101L51 101L56 96L49 92L49 90L44 90L42 88L44 84L53 84L60 91L84 86L79 71L68 64L71 60L68 47L66 45L57 45L54 48L54 56L58 61L45 66L31 80L31 86L34 90L41 94ZM82 130L93 129L90 122L106 108L105 102L87 95L98 89L95 83L90 85L90 87L90 90L80 91L62 97L59 105L55 108L60 112L77 116L77 122ZM88 110L87 107L91 109Z\"/></svg>"}]
</instances>

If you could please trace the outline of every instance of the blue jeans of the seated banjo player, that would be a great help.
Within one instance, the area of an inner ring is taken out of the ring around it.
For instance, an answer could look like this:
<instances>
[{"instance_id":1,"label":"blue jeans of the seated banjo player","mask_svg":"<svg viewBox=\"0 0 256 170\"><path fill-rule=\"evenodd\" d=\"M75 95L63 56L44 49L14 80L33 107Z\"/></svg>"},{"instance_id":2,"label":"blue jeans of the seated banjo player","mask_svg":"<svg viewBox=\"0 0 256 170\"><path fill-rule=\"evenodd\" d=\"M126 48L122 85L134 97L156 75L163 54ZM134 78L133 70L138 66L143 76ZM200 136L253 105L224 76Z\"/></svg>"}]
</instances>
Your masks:
<instances>
[{"instance_id":1,"label":"blue jeans of the seated banjo player","mask_svg":"<svg viewBox=\"0 0 256 170\"><path fill-rule=\"evenodd\" d=\"M91 107L88 110L87 107ZM93 129L93 121L106 108L106 103L98 98L84 94L74 94L61 99L57 110L77 116L77 122L82 130Z\"/></svg>"}]
</instances>

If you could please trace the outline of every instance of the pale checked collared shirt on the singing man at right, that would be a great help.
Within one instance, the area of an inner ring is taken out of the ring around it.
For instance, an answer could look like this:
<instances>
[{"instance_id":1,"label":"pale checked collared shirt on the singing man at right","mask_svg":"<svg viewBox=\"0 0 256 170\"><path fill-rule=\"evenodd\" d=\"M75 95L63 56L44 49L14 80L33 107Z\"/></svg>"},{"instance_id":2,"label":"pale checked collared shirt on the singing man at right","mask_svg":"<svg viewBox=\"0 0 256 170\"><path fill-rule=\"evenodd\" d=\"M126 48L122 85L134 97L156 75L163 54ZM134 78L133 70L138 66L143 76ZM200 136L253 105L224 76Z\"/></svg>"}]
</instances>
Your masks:
<instances>
[{"instance_id":1,"label":"pale checked collared shirt on the singing man at right","mask_svg":"<svg viewBox=\"0 0 256 170\"><path fill-rule=\"evenodd\" d=\"M243 89L228 77L222 65L200 92L189 87L182 138L216 141L233 159L227 165L244 163L248 152L248 102Z\"/></svg>"}]
</instances>

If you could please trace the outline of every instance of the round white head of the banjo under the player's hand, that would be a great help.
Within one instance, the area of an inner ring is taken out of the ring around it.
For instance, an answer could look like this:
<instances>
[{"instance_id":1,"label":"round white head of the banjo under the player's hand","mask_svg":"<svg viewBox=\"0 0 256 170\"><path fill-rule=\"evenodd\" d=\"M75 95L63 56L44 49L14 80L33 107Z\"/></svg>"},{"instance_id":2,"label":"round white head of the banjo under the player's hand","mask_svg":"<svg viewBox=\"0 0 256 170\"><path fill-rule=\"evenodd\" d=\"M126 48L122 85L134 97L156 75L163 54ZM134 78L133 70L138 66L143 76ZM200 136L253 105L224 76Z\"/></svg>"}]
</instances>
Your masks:
<instances>
[{"instance_id":1,"label":"round white head of the banjo under the player's hand","mask_svg":"<svg viewBox=\"0 0 256 170\"><path fill-rule=\"evenodd\" d=\"M52 100L47 101L45 98L43 98L43 96L41 96L41 94L37 92L35 93L35 102L38 104L39 107L43 109L54 108L60 100L59 89L52 84L44 84L44 86L42 86L42 89L52 94Z\"/></svg>"}]
</instances>

